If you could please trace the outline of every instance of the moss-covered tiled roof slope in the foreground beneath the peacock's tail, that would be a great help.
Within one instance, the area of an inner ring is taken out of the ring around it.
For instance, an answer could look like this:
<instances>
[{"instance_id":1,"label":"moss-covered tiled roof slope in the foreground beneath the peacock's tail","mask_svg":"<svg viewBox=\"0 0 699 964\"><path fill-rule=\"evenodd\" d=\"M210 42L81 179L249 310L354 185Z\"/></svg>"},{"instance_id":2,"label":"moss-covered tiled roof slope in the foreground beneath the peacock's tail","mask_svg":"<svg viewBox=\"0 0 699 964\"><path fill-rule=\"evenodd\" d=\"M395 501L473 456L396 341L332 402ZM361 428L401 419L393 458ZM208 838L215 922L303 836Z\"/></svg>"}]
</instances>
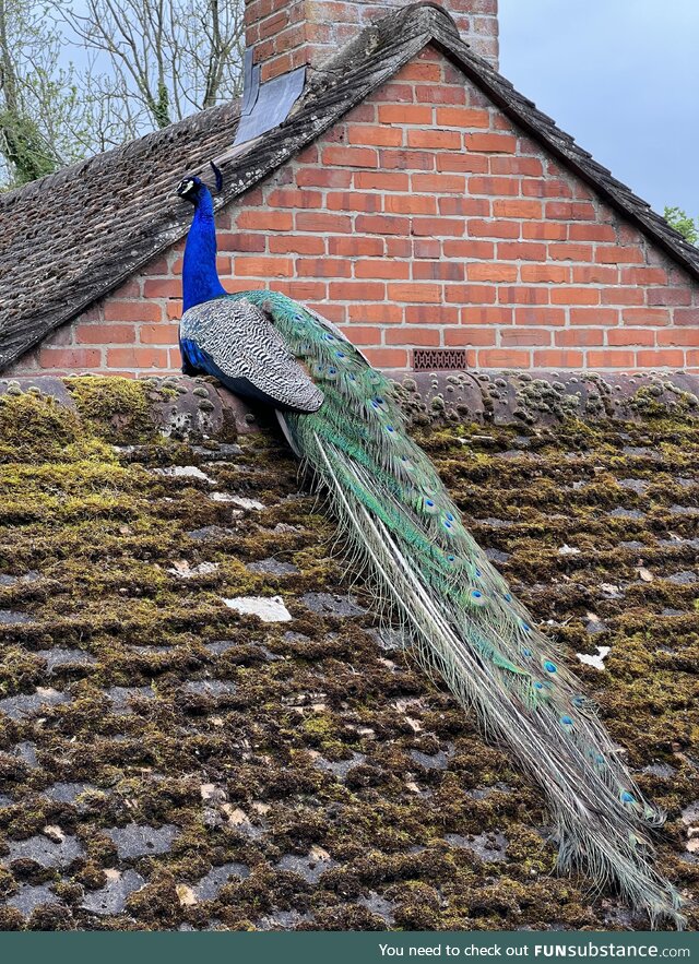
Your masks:
<instances>
[{"instance_id":1,"label":"moss-covered tiled roof slope in the foreground beneath the peacock's tail","mask_svg":"<svg viewBox=\"0 0 699 964\"><path fill-rule=\"evenodd\" d=\"M377 631L272 429L155 432L204 382L4 388L0 929L645 928L552 873L541 794ZM696 928L699 424L659 392L495 426L448 388L417 437L666 808ZM223 602L260 596L291 619Z\"/></svg>"}]
</instances>

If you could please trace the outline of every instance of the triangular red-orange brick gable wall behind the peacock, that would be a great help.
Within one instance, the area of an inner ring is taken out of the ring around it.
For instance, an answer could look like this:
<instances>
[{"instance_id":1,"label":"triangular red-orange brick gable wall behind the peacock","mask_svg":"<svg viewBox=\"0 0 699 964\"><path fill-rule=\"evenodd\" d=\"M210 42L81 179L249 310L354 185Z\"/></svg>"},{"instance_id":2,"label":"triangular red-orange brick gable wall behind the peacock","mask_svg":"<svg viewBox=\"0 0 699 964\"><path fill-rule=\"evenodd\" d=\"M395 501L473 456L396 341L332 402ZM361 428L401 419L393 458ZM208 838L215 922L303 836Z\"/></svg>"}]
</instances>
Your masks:
<instances>
[{"instance_id":1,"label":"triangular red-orange brick gable wall behind the peacock","mask_svg":"<svg viewBox=\"0 0 699 964\"><path fill-rule=\"evenodd\" d=\"M699 285L427 48L217 216L230 291L318 308L386 369L699 370ZM183 242L14 371L179 367Z\"/></svg>"}]
</instances>

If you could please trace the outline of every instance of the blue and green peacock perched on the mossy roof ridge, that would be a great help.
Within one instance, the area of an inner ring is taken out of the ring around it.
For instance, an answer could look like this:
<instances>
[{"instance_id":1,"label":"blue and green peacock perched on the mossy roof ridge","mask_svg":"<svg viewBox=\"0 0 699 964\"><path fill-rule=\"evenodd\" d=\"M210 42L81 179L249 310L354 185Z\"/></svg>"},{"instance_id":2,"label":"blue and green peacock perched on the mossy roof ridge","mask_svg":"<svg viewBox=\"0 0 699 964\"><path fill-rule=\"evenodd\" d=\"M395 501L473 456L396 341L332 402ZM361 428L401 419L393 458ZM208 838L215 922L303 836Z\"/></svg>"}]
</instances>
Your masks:
<instances>
[{"instance_id":1,"label":"blue and green peacock perched on the mossy roof ridge","mask_svg":"<svg viewBox=\"0 0 699 964\"><path fill-rule=\"evenodd\" d=\"M663 813L643 799L579 681L466 531L407 433L393 382L310 308L271 290L227 294L212 192L192 175L177 193L194 205L182 267L183 372L215 376L274 408L348 558L387 600L419 664L543 789L559 869L616 885L653 926L670 918L682 927L679 895L654 868L649 841Z\"/></svg>"}]
</instances>

